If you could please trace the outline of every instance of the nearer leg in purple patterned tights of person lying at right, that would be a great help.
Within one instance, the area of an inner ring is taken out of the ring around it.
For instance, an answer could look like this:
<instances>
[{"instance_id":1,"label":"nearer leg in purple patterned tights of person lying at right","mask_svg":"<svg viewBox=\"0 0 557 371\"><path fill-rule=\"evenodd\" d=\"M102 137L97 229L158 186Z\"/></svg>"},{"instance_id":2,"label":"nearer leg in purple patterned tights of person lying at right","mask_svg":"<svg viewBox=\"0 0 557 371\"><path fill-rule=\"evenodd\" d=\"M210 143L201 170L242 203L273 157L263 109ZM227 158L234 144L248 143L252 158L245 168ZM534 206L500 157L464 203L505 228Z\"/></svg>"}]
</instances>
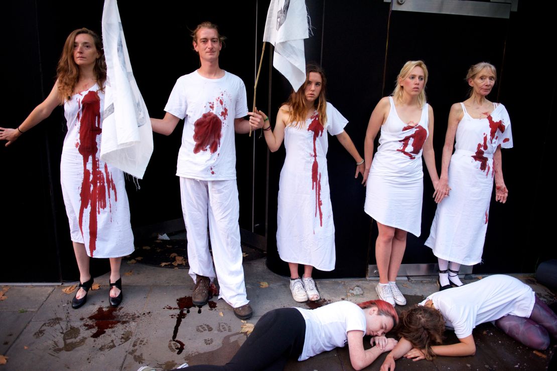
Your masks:
<instances>
[{"instance_id":1,"label":"nearer leg in purple patterned tights of person lying at right","mask_svg":"<svg viewBox=\"0 0 557 371\"><path fill-rule=\"evenodd\" d=\"M495 321L503 332L526 347L545 350L549 347L547 330L535 321L516 315L506 315Z\"/></svg>"}]
</instances>

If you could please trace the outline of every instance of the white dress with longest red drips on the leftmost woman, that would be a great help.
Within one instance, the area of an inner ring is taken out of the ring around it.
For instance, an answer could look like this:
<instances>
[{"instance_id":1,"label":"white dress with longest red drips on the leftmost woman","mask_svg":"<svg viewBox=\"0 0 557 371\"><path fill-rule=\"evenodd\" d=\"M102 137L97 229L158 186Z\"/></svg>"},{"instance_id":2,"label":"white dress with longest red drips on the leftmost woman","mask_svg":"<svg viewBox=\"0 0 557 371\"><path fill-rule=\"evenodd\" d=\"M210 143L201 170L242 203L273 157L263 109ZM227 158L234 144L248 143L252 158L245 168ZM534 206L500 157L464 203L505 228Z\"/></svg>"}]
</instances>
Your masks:
<instances>
[{"instance_id":1,"label":"white dress with longest red drips on the leftmost woman","mask_svg":"<svg viewBox=\"0 0 557 371\"><path fill-rule=\"evenodd\" d=\"M92 258L118 258L134 251L124 174L100 160L104 93L94 85L64 104L68 132L60 179L71 240Z\"/></svg>"}]
</instances>

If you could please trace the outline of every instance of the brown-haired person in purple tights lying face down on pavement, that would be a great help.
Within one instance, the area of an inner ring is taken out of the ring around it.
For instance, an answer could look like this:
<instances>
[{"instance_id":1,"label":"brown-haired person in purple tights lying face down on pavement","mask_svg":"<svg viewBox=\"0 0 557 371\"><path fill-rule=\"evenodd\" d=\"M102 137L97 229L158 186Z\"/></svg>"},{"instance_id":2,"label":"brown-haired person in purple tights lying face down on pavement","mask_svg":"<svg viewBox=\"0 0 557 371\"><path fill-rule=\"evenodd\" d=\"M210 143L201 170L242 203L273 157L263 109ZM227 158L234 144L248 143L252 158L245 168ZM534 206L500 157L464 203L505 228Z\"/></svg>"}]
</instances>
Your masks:
<instances>
[{"instance_id":1,"label":"brown-haired person in purple tights lying face down on pavement","mask_svg":"<svg viewBox=\"0 0 557 371\"><path fill-rule=\"evenodd\" d=\"M506 275L492 275L458 288L429 295L400 315L400 340L387 355L381 370L394 370L395 359L431 360L474 355L472 329L495 321L495 325L527 347L544 350L550 337L557 338L557 315L534 291ZM445 327L455 330L457 344L439 345Z\"/></svg>"}]
</instances>

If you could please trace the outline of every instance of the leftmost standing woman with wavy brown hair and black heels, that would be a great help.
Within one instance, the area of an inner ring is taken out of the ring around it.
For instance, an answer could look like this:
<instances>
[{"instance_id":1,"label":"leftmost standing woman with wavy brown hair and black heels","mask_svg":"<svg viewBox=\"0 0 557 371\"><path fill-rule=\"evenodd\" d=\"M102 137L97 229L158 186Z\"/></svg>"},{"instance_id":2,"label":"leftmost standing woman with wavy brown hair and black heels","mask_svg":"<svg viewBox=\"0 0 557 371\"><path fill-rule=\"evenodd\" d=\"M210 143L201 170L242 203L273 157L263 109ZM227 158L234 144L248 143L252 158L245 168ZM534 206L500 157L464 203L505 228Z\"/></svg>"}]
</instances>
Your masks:
<instances>
[{"instance_id":1,"label":"leftmost standing woman with wavy brown hair and black heels","mask_svg":"<svg viewBox=\"0 0 557 371\"><path fill-rule=\"evenodd\" d=\"M120 263L133 252L124 174L100 159L106 63L99 36L76 29L67 37L52 91L17 128L0 127L0 140L11 145L63 105L68 132L62 147L60 178L71 240L80 273L72 308L87 301L93 284L89 258L109 258L109 303L123 298Z\"/></svg>"}]
</instances>

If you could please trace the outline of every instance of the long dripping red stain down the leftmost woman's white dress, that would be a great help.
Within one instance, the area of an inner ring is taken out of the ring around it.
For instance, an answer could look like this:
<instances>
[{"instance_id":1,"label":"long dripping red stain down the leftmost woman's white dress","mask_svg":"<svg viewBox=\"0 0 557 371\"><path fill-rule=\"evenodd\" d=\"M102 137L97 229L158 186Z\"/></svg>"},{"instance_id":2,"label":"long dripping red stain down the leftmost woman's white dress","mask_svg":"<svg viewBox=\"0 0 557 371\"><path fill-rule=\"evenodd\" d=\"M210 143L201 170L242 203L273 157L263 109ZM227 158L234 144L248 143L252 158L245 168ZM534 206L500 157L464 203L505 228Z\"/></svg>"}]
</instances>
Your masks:
<instances>
[{"instance_id":1,"label":"long dripping red stain down the leftmost woman's white dress","mask_svg":"<svg viewBox=\"0 0 557 371\"><path fill-rule=\"evenodd\" d=\"M97 240L97 215L106 208L106 194L114 191L116 201L116 186L105 164L105 172L100 169L97 158L97 136L101 134L100 99L95 91L89 91L81 101L81 119L79 127L78 151L83 157L83 180L81 182L81 206L79 210L79 227L83 233L83 213L89 210L89 252L93 256ZM91 158L91 170L87 164ZM106 181L105 181L106 175ZM111 206L110 206L111 208Z\"/></svg>"}]
</instances>

